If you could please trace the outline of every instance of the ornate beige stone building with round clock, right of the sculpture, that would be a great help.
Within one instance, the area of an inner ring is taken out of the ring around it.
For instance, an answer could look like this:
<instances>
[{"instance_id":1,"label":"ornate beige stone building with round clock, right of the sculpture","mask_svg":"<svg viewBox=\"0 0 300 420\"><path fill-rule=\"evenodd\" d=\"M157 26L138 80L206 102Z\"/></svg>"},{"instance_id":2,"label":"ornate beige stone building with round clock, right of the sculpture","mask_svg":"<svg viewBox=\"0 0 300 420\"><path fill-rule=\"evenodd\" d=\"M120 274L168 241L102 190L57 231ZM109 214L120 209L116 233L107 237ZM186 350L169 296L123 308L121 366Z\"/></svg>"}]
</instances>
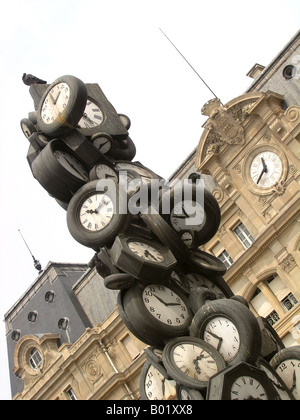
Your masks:
<instances>
[{"instance_id":1,"label":"ornate beige stone building with round clock, right of the sculpture","mask_svg":"<svg viewBox=\"0 0 300 420\"><path fill-rule=\"evenodd\" d=\"M230 288L286 346L299 339L299 61L298 33L248 92L224 106L207 102L195 158L221 209L217 235L202 248L226 264Z\"/></svg>"}]
</instances>

